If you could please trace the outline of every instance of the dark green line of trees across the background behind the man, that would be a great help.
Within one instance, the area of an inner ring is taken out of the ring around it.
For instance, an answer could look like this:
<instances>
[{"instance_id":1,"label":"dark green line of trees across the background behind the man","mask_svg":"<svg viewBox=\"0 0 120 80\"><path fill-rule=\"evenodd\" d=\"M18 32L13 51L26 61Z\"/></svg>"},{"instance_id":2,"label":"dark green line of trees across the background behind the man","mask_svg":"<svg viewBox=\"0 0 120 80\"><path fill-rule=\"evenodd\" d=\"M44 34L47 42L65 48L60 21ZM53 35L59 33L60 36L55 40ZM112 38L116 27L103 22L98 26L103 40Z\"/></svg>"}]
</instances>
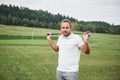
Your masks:
<instances>
[{"instance_id":1,"label":"dark green line of trees across the background behind the man","mask_svg":"<svg viewBox=\"0 0 120 80\"><path fill-rule=\"evenodd\" d=\"M75 31L89 30L96 33L120 34L120 25L110 25L101 21L78 21L73 17L59 13L52 14L47 10L31 10L14 5L0 5L0 24L59 29L61 20L65 18L73 22L73 30Z\"/></svg>"}]
</instances>

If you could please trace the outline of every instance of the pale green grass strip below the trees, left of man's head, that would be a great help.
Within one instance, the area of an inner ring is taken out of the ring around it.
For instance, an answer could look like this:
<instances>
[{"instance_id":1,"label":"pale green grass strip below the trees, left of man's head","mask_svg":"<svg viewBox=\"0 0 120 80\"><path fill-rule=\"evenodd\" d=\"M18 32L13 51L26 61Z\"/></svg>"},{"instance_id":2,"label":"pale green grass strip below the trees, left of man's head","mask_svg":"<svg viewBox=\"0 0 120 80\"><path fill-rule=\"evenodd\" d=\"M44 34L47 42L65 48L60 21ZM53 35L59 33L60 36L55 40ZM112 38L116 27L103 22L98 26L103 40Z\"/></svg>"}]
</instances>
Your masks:
<instances>
[{"instance_id":1,"label":"pale green grass strip below the trees, left of man's head","mask_svg":"<svg viewBox=\"0 0 120 80\"><path fill-rule=\"evenodd\" d=\"M23 27L23 26L6 26L0 25L0 35L21 35L21 36L41 36L46 35L47 32L59 32L53 29Z\"/></svg>"}]
</instances>

